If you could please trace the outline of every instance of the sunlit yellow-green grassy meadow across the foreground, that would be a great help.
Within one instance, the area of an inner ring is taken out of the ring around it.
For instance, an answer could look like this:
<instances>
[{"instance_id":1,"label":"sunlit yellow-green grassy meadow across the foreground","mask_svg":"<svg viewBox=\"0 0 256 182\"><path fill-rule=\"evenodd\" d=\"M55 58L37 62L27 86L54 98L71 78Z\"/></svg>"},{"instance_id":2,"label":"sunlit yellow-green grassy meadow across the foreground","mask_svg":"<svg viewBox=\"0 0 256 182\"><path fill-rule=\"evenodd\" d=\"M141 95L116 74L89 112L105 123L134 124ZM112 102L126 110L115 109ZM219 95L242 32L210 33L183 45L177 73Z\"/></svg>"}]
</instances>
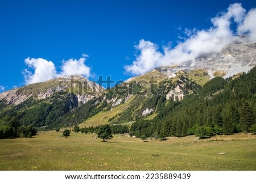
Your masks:
<instances>
[{"instance_id":1,"label":"sunlit yellow-green grassy meadow across the foreground","mask_svg":"<svg viewBox=\"0 0 256 182\"><path fill-rule=\"evenodd\" d=\"M39 133L0 140L0 170L255 170L256 136L235 134L196 140L193 136L143 142L115 135ZM220 154L222 153L222 154Z\"/></svg>"}]
</instances>

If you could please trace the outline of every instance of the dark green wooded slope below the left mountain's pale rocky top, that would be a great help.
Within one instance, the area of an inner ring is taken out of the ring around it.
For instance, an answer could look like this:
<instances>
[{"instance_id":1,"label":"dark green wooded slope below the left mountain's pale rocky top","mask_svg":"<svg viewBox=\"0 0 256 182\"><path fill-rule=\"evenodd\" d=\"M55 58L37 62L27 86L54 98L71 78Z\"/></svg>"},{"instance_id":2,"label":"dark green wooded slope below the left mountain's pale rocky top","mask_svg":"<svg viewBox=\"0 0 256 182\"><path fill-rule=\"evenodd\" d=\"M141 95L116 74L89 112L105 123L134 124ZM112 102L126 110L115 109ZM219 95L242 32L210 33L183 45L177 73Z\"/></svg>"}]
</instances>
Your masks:
<instances>
[{"instance_id":1,"label":"dark green wooded slope below the left mountain's pale rocky top","mask_svg":"<svg viewBox=\"0 0 256 182\"><path fill-rule=\"evenodd\" d=\"M97 100L101 101L102 98L97 98ZM0 118L6 115L15 116L20 125L33 125L41 130L51 130L62 126L77 125L102 111L106 103L103 102L101 107L96 108L97 100L89 100L78 107L79 103L75 95L63 95L58 92L47 99L37 100L31 97L5 112L0 108Z\"/></svg>"}]
</instances>

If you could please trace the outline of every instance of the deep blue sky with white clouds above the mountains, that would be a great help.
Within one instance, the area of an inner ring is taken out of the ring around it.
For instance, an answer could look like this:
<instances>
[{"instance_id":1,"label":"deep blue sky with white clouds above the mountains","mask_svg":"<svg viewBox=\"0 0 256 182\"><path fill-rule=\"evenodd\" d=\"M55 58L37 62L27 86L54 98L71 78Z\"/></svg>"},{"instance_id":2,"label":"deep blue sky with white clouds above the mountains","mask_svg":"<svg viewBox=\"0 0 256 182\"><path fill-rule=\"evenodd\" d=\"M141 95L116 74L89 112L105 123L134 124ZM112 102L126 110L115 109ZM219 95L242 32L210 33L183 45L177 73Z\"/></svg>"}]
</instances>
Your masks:
<instances>
[{"instance_id":1,"label":"deep blue sky with white clouds above the mountains","mask_svg":"<svg viewBox=\"0 0 256 182\"><path fill-rule=\"evenodd\" d=\"M126 80L193 58L195 46L256 41L256 1L236 2L0 0L0 92L65 74Z\"/></svg>"}]
</instances>

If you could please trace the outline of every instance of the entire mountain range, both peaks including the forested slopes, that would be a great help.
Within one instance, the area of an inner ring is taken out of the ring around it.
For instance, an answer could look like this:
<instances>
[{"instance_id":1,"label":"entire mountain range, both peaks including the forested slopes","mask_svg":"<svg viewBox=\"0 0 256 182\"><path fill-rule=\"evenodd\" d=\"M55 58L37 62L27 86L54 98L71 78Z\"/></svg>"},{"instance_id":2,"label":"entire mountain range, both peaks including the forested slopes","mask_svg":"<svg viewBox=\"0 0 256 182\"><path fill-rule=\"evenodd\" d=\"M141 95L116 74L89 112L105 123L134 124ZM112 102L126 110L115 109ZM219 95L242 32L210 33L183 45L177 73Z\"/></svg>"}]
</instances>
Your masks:
<instances>
[{"instance_id":1,"label":"entire mountain range, both peaks including the forested slopes","mask_svg":"<svg viewBox=\"0 0 256 182\"><path fill-rule=\"evenodd\" d=\"M229 120L234 133L244 128L240 116L236 124L228 119L230 105L236 103L234 109L241 113L247 103L243 107L249 108L254 121L255 65L256 43L237 43L180 65L158 67L106 90L81 76L34 83L0 94L0 126L15 117L19 125L40 130L110 124L129 126L137 137L164 137L195 134L199 126L221 133Z\"/></svg>"}]
</instances>

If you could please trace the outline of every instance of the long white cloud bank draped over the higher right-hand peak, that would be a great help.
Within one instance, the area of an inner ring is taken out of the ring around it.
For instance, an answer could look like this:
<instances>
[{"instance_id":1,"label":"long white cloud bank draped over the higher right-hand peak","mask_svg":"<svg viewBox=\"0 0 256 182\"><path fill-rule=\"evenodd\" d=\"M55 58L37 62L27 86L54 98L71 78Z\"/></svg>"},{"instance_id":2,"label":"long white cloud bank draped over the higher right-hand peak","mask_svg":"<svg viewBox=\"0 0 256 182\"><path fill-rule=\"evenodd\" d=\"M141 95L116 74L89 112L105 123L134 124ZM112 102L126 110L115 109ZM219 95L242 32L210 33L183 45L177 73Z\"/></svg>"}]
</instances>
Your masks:
<instances>
[{"instance_id":1,"label":"long white cloud bank draped over the higher right-hand peak","mask_svg":"<svg viewBox=\"0 0 256 182\"><path fill-rule=\"evenodd\" d=\"M226 44L236 41L256 41L256 9L246 14L241 3L234 3L225 12L221 12L211 19L213 27L208 29L185 29L188 38L177 44L175 48L163 47L160 52L158 45L151 41L141 40L135 46L140 54L136 56L132 65L126 65L127 72L143 74L158 66L176 65L195 59L201 54L220 51ZM235 32L230 28L234 23Z\"/></svg>"}]
</instances>

